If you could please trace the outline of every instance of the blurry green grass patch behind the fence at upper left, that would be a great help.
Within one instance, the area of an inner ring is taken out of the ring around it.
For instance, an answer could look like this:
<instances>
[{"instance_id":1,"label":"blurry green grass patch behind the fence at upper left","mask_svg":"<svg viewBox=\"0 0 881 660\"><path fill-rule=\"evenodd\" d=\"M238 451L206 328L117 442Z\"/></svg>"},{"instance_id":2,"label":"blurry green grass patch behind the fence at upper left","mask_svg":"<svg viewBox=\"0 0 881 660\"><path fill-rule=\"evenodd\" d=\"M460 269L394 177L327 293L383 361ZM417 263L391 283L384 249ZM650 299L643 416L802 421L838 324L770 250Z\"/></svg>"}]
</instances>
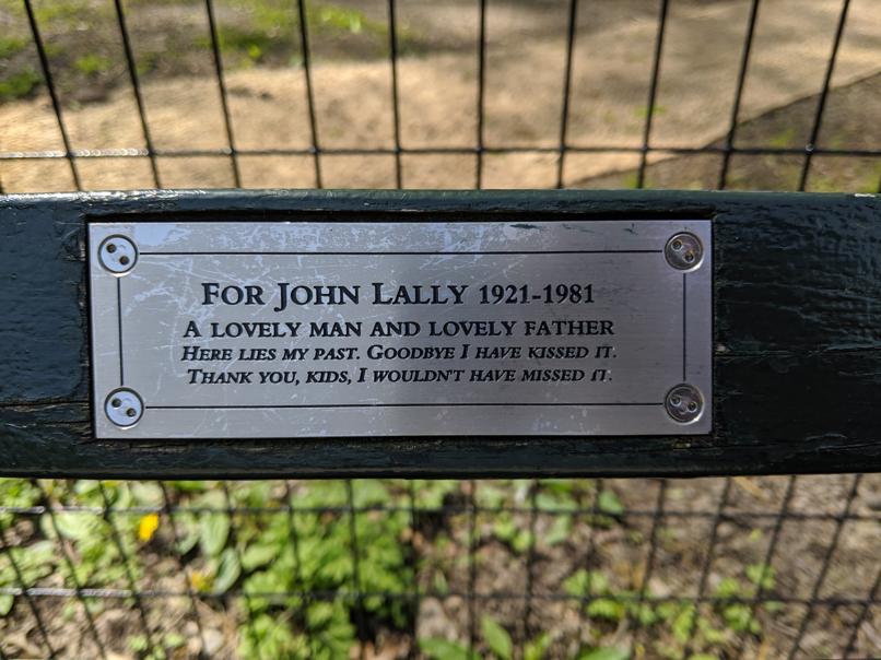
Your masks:
<instances>
[{"instance_id":1,"label":"blurry green grass patch behind the fence at upper left","mask_svg":"<svg viewBox=\"0 0 881 660\"><path fill-rule=\"evenodd\" d=\"M203 2L158 0L158 3L185 11L188 17L183 21L166 17L164 25L151 27L148 34L141 27L143 21L138 19L142 13L153 11L156 2L131 0L128 4L129 30L138 72L145 80L156 74L210 73L211 58L204 55L212 47L211 36L207 26L192 28L193 22L204 25ZM290 0L224 0L218 5L218 38L227 69L256 64L295 67L301 63L296 3ZM33 49L20 0L0 0L0 10L11 19L0 36L0 101L13 101L32 95L40 84L40 78L34 73L33 60L20 56ZM34 10L59 95L66 103L78 103L83 90L89 91L87 96L94 97L96 86L108 91L125 84L125 76L113 74L115 64L124 57L113 3L47 0L36 3ZM322 45L316 57L364 59L387 55L388 27L385 21L374 21L356 9L317 1L306 4L306 16L310 33ZM83 31L84 26L90 27L89 33ZM151 42L156 30L167 37L162 48ZM412 38L411 33L402 27L400 45L406 46ZM144 44L151 46L144 47Z\"/></svg>"}]
</instances>

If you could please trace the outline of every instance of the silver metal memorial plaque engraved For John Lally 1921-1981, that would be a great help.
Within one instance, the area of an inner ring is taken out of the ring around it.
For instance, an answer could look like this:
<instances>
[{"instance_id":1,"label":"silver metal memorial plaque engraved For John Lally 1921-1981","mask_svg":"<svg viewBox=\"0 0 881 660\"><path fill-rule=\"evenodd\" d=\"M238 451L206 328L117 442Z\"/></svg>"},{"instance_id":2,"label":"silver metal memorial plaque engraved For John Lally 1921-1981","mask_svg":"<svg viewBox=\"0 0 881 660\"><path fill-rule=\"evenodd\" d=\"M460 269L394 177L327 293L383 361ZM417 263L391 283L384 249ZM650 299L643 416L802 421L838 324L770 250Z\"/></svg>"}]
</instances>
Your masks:
<instances>
[{"instance_id":1,"label":"silver metal memorial plaque engraved For John Lally 1921-1981","mask_svg":"<svg viewBox=\"0 0 881 660\"><path fill-rule=\"evenodd\" d=\"M93 223L95 435L705 434L710 232Z\"/></svg>"}]
</instances>

